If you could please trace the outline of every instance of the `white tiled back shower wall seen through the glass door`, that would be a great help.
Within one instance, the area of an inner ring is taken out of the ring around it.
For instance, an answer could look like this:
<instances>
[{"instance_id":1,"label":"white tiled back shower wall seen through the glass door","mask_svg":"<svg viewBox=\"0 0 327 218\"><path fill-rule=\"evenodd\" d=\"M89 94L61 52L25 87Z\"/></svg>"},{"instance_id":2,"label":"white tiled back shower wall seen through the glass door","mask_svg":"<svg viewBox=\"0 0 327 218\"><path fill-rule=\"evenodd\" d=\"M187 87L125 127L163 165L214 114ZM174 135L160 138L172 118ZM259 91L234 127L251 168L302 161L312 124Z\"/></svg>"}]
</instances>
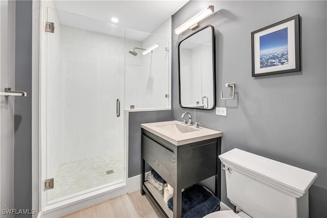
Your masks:
<instances>
[{"instance_id":1,"label":"white tiled back shower wall seen through the glass door","mask_svg":"<svg viewBox=\"0 0 327 218\"><path fill-rule=\"evenodd\" d=\"M124 47L123 37L61 26L63 159L123 151L116 99L124 99Z\"/></svg>"}]
</instances>

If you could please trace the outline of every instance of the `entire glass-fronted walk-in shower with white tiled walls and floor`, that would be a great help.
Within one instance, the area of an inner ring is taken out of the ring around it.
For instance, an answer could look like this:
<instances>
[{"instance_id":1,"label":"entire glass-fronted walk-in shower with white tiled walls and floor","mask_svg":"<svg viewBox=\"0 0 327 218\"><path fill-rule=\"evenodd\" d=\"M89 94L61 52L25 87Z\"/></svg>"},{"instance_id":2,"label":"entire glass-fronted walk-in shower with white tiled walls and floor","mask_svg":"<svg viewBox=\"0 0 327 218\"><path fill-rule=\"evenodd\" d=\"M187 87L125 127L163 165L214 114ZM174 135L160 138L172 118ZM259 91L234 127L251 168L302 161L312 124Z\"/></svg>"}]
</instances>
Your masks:
<instances>
[{"instance_id":1,"label":"entire glass-fronted walk-in shower with white tiled walls and floor","mask_svg":"<svg viewBox=\"0 0 327 218\"><path fill-rule=\"evenodd\" d=\"M124 109L169 107L169 38L50 7L46 19L40 131L53 205L126 184Z\"/></svg>"}]
</instances>

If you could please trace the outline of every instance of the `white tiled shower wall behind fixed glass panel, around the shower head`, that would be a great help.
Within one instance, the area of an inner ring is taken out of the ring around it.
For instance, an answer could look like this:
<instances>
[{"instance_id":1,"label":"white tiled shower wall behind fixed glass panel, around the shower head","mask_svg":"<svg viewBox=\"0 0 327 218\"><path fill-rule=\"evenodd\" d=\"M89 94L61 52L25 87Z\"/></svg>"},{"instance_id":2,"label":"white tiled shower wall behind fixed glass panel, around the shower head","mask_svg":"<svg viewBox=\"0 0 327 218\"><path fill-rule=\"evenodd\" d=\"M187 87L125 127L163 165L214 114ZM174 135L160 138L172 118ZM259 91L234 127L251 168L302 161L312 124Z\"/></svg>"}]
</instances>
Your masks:
<instances>
[{"instance_id":1,"label":"white tiled shower wall behind fixed glass panel, around the shower head","mask_svg":"<svg viewBox=\"0 0 327 218\"><path fill-rule=\"evenodd\" d=\"M135 30L126 28L126 36ZM166 98L170 90L170 52L169 38L171 19L167 19L153 34L146 34L142 40L126 38L126 109L134 105L135 109L168 108L170 99ZM134 47L147 49L158 42L159 47L153 53L142 55L142 50L136 50L137 56L128 54Z\"/></svg>"}]
</instances>

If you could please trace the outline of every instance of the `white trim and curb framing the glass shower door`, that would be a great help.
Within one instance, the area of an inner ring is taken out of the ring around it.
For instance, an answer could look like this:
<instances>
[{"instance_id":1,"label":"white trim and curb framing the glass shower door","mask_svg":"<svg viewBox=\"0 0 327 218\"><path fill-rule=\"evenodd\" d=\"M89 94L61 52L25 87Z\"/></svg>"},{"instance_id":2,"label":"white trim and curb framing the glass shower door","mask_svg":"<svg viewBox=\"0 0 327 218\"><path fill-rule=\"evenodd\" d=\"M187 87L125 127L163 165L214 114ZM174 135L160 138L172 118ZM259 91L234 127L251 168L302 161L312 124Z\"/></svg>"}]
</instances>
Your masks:
<instances>
[{"instance_id":1,"label":"white trim and curb framing the glass shower door","mask_svg":"<svg viewBox=\"0 0 327 218\"><path fill-rule=\"evenodd\" d=\"M124 109L121 109L123 116L123 153L124 153L124 181L109 187L101 188L83 195L63 200L51 205L47 205L46 190L44 181L46 178L46 52L47 39L45 32L45 22L48 17L48 7L55 8L52 2L40 1L40 41L39 41L39 214L38 217L59 217L72 211L77 211L88 206L92 206L105 200L124 195L128 192L128 148L126 143L126 117ZM68 12L71 13L71 12ZM124 60L125 62L125 60ZM124 66L125 67L125 66ZM125 71L125 70L124 70ZM124 79L125 80L125 79ZM124 96L125 98L125 96Z\"/></svg>"}]
</instances>

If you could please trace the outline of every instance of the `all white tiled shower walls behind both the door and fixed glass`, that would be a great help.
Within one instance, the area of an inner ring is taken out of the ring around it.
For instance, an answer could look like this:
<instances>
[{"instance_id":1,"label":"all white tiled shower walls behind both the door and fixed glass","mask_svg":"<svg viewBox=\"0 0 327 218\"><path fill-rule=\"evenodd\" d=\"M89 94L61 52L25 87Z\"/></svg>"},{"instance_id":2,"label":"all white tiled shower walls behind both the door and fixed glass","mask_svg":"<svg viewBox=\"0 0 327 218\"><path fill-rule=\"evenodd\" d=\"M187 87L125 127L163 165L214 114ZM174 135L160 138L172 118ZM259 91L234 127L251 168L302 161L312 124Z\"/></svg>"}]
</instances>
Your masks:
<instances>
[{"instance_id":1,"label":"all white tiled shower walls behind both the door and fixed glass","mask_svg":"<svg viewBox=\"0 0 327 218\"><path fill-rule=\"evenodd\" d=\"M63 25L48 36L47 176L51 178L62 163L123 152L124 118L116 117L116 99L122 100L121 114L130 105L169 107L165 96L169 93L165 49L169 39L147 34L142 41L125 40L124 35ZM156 41L159 47L152 54L128 53Z\"/></svg>"}]
</instances>

